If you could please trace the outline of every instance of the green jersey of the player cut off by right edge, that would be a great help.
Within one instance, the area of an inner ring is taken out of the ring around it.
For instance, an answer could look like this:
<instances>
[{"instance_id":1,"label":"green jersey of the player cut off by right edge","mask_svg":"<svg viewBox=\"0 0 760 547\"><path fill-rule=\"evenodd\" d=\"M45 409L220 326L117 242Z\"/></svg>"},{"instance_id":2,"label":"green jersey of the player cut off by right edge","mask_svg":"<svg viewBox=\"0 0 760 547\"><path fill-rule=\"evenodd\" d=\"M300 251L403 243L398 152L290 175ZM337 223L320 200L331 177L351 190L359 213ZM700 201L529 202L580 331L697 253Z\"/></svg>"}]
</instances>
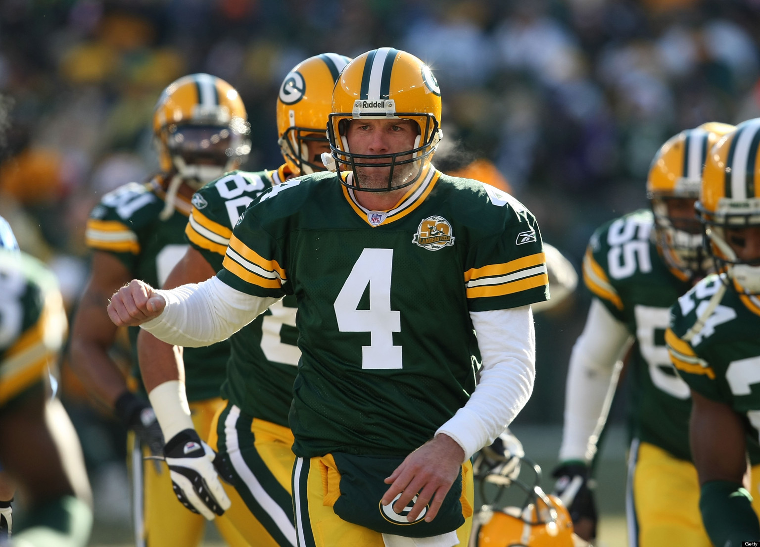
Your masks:
<instances>
[{"instance_id":1,"label":"green jersey of the player cut off by right edge","mask_svg":"<svg viewBox=\"0 0 760 547\"><path fill-rule=\"evenodd\" d=\"M680 297L670 308L666 337L673 363L692 390L746 415L754 464L760 434L760 298L724 283L725 275L710 275ZM720 302L710 312L714 297ZM695 328L697 320L701 328Z\"/></svg>"}]
</instances>

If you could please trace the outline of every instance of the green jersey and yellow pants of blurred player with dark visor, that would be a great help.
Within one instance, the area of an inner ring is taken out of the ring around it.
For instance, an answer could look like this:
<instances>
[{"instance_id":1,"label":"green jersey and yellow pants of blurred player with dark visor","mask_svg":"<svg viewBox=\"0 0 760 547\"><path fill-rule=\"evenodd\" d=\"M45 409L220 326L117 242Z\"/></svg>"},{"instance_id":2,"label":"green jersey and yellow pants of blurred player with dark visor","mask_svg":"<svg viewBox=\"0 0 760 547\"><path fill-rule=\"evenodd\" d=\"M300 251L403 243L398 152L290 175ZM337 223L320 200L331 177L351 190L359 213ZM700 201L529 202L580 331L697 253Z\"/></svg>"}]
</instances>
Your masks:
<instances>
[{"instance_id":1,"label":"green jersey and yellow pants of blurred player with dark visor","mask_svg":"<svg viewBox=\"0 0 760 547\"><path fill-rule=\"evenodd\" d=\"M119 187L103 196L87 221L90 249L110 253L124 264L132 278L159 288L187 250L184 232L192 208L187 199L178 195L173 214L162 220L165 182L157 176L146 184L128 183ZM139 383L138 332L138 327L129 329L134 356L132 373ZM229 355L230 344L226 341L204 348L185 348L183 353L192 419L204 440L208 438L214 415L223 405L219 390ZM141 386L139 389L143 391ZM148 545L198 545L203 537L204 518L177 503L166 464L142 461L132 434L128 444L135 473L132 481L135 506L142 513L141 517L136 513L135 519L144 520L144 526L135 524L136 534L144 537ZM142 455L148 455L147 447L143 447ZM215 522L226 539L233 541L235 533L226 518Z\"/></svg>"}]
</instances>

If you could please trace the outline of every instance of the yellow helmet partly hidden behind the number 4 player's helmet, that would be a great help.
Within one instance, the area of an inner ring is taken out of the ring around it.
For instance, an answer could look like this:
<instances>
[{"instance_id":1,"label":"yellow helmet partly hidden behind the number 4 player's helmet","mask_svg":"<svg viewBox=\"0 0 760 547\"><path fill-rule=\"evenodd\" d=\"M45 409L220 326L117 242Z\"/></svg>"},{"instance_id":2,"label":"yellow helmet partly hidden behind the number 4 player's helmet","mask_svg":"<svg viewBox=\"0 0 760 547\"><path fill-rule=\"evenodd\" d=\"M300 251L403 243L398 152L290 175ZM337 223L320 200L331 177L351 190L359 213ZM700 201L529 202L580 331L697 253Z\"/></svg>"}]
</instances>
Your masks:
<instances>
[{"instance_id":1,"label":"yellow helmet partly hidden behind the number 4 player's helmet","mask_svg":"<svg viewBox=\"0 0 760 547\"><path fill-rule=\"evenodd\" d=\"M325 128L332 91L350 58L337 53L309 57L293 67L277 95L277 143L294 175L324 171L321 159L309 157L306 142L328 142Z\"/></svg>"}]
</instances>

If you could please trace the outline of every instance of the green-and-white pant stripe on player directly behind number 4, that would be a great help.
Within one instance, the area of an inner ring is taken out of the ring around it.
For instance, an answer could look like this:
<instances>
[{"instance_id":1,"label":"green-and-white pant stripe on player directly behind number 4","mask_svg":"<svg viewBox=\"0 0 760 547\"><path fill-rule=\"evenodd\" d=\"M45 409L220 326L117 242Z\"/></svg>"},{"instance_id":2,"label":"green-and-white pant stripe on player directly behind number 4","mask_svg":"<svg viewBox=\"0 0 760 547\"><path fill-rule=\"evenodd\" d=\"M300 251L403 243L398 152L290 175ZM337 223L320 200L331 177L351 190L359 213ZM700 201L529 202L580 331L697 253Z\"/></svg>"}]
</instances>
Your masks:
<instances>
[{"instance_id":1,"label":"green-and-white pant stripe on player directly behind number 4","mask_svg":"<svg viewBox=\"0 0 760 547\"><path fill-rule=\"evenodd\" d=\"M272 475L254 445L252 418L228 405L217 426L218 448L230 463L235 489L253 516L278 545L295 547L293 501L290 493Z\"/></svg>"}]
</instances>

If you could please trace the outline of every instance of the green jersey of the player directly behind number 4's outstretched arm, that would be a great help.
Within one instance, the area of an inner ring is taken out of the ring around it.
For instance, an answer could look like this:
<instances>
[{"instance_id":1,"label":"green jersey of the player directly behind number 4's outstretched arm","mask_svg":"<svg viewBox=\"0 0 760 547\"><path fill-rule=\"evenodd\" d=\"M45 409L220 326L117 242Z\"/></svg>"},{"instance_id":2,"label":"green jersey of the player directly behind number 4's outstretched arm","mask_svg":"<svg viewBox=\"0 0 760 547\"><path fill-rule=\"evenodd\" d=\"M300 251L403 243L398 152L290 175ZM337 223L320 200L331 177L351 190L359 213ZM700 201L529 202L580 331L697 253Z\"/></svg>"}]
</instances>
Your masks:
<instances>
[{"instance_id":1,"label":"green jersey of the player directly behind number 4's outstretched arm","mask_svg":"<svg viewBox=\"0 0 760 547\"><path fill-rule=\"evenodd\" d=\"M214 270L222 269L227 244L242 211L285 177L285 166L258 173L232 171L193 196L185 235ZM297 340L296 297L289 294L230 337L223 398L252 418L287 427L301 357Z\"/></svg>"}]
</instances>

